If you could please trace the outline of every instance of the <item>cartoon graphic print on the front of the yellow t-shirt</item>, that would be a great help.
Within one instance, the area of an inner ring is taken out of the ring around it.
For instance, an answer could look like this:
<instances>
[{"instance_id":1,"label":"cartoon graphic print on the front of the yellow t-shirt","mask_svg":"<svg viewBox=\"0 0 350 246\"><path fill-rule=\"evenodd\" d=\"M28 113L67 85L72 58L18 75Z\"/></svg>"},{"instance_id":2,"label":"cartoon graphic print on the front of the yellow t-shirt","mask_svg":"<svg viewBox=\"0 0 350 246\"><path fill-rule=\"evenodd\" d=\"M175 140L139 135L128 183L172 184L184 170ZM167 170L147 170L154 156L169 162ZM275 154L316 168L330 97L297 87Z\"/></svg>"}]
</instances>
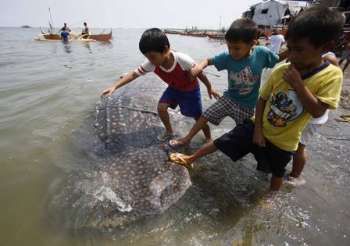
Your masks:
<instances>
[{"instance_id":1,"label":"cartoon graphic print on the front of the yellow t-shirt","mask_svg":"<svg viewBox=\"0 0 350 246\"><path fill-rule=\"evenodd\" d=\"M271 97L271 108L267 119L274 127L285 127L289 121L298 118L304 111L295 91L280 91Z\"/></svg>"}]
</instances>

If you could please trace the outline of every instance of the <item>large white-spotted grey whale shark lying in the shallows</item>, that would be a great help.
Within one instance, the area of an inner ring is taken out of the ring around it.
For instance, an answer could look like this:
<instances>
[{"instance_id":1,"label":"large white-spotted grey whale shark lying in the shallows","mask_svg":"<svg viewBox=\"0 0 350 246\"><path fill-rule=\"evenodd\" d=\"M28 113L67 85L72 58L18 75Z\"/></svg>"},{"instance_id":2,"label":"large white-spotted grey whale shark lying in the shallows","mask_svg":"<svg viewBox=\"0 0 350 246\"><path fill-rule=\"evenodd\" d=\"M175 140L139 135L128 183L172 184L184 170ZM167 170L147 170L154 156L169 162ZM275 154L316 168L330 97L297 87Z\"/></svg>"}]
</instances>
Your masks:
<instances>
[{"instance_id":1,"label":"large white-spotted grey whale shark lying in the shallows","mask_svg":"<svg viewBox=\"0 0 350 246\"><path fill-rule=\"evenodd\" d=\"M115 228L160 214L191 185L186 168L170 163L157 140L160 120L146 108L154 97L116 94L97 104L94 138L78 135L90 165L57 185L50 200L50 215L67 228Z\"/></svg>"}]
</instances>

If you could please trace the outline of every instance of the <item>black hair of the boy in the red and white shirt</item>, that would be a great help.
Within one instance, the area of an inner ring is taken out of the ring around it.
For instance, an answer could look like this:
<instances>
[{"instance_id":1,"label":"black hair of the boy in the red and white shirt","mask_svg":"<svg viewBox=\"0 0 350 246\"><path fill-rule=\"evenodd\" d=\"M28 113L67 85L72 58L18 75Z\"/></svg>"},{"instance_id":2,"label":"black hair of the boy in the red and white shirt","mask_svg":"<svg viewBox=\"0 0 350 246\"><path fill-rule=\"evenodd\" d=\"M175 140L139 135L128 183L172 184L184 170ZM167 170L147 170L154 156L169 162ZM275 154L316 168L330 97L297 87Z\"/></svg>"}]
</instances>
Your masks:
<instances>
[{"instance_id":1,"label":"black hair of the boy in the red and white shirt","mask_svg":"<svg viewBox=\"0 0 350 246\"><path fill-rule=\"evenodd\" d=\"M151 51L163 53L167 48L170 48L170 43L165 32L159 28L151 28L142 34L139 48L142 54Z\"/></svg>"}]
</instances>

